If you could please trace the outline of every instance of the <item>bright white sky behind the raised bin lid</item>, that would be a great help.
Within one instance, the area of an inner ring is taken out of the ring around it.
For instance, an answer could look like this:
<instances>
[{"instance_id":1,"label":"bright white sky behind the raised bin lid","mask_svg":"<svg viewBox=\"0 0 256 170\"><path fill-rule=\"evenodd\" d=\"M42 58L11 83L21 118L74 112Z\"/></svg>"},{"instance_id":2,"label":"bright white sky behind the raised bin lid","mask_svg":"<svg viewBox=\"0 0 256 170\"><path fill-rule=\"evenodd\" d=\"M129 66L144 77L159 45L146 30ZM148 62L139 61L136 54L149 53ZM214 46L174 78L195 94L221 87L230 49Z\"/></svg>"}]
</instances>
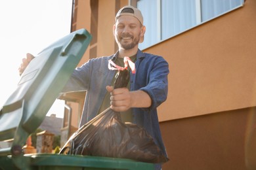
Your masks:
<instances>
[{"instance_id":1,"label":"bright white sky behind the raised bin lid","mask_svg":"<svg viewBox=\"0 0 256 170\"><path fill-rule=\"evenodd\" d=\"M20 79L18 67L26 53L39 53L70 33L72 0L12 0L0 3L0 107ZM60 104L62 106L60 107ZM63 116L57 100L48 114Z\"/></svg>"}]
</instances>

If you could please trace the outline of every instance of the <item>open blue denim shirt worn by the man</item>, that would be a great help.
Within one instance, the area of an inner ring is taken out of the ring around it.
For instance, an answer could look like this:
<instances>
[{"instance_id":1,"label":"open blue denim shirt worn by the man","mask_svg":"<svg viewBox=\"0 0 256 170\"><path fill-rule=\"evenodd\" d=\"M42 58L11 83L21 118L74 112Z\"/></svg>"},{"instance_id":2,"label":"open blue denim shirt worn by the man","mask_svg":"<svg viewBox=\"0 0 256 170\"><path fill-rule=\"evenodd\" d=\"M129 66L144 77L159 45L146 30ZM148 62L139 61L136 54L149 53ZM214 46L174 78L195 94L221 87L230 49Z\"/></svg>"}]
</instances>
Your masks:
<instances>
[{"instance_id":1,"label":"open blue denim shirt worn by the man","mask_svg":"<svg viewBox=\"0 0 256 170\"><path fill-rule=\"evenodd\" d=\"M115 75L115 71L108 69L108 60L115 60L117 56L118 52L112 56L89 59L74 70L66 84L64 92L87 91L80 126L98 113L107 92L106 86L111 84ZM130 90L143 90L148 93L152 105L149 108L133 108L133 123L144 127L167 156L161 138L157 107L167 99L169 65L161 56L138 50L135 67L135 75L130 75Z\"/></svg>"}]
</instances>

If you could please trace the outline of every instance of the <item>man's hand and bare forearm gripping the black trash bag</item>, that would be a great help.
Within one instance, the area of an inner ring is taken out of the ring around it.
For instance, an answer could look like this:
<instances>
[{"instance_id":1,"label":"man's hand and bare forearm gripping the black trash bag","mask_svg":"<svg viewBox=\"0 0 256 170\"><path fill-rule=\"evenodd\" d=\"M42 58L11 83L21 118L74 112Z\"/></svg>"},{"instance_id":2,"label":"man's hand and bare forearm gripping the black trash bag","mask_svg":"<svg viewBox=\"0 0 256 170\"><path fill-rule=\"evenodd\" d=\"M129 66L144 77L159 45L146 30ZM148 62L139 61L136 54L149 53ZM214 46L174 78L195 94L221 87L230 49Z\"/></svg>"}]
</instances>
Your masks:
<instances>
[{"instance_id":1,"label":"man's hand and bare forearm gripping the black trash bag","mask_svg":"<svg viewBox=\"0 0 256 170\"><path fill-rule=\"evenodd\" d=\"M110 92L110 108L117 112L124 112L131 107L150 107L151 98L148 93L142 90L129 92L127 88L114 89L113 86L106 86Z\"/></svg>"}]
</instances>

